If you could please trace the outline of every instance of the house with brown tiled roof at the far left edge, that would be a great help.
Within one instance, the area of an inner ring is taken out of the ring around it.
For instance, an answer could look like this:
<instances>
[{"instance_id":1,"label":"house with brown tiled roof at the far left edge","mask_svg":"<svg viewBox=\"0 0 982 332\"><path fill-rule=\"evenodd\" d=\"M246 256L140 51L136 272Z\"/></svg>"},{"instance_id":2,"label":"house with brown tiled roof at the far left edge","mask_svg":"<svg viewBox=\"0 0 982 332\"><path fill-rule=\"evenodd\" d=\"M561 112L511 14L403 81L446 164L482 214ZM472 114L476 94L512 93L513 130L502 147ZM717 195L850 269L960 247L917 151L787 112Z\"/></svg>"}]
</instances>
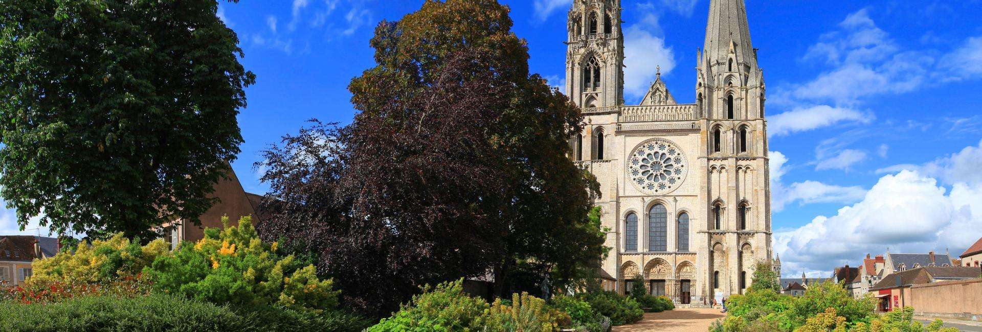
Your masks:
<instances>
[{"instance_id":1,"label":"house with brown tiled roof at the far left edge","mask_svg":"<svg viewBox=\"0 0 982 332\"><path fill-rule=\"evenodd\" d=\"M32 235L0 236L0 284L20 285L33 274L34 259L58 254L58 239Z\"/></svg>"}]
</instances>

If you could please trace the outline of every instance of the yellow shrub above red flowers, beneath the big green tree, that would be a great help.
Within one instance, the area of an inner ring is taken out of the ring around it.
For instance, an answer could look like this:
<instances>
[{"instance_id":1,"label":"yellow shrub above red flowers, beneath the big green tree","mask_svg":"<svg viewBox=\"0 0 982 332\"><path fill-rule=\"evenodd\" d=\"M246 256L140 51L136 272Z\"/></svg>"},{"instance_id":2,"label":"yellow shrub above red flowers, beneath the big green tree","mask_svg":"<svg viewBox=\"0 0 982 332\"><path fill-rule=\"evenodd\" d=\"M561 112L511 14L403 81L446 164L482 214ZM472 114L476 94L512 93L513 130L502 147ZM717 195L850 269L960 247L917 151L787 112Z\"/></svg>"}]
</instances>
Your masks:
<instances>
[{"instance_id":1,"label":"yellow shrub above red flowers, beneath the big green tree","mask_svg":"<svg viewBox=\"0 0 982 332\"><path fill-rule=\"evenodd\" d=\"M109 240L95 240L91 245L82 241L74 253L61 252L52 258L35 260L31 264L38 282L98 283L120 277L134 276L158 257L167 255L170 245L154 240L145 246L139 239L131 242L116 234Z\"/></svg>"}]
</instances>

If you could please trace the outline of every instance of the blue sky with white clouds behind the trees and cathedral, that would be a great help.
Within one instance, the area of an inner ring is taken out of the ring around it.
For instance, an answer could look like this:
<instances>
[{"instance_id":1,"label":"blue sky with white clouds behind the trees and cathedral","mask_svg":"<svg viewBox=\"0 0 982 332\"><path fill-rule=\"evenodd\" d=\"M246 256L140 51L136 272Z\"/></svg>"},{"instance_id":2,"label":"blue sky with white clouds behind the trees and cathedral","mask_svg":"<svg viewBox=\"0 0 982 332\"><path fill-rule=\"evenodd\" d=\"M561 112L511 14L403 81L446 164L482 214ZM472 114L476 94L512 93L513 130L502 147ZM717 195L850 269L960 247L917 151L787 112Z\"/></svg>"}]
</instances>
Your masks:
<instances>
[{"instance_id":1,"label":"blue sky with white clouds behind the trees and cathedral","mask_svg":"<svg viewBox=\"0 0 982 332\"><path fill-rule=\"evenodd\" d=\"M528 41L530 67L562 84L571 0L502 0ZM222 3L257 83L239 117L234 164L263 193L258 152L304 120L351 121L347 85L373 66L380 20L417 0ZM982 0L746 0L768 86L775 250L786 275L828 275L866 253L944 252L982 236ZM655 66L682 103L709 0L623 0L627 103ZM0 233L16 233L0 214ZM28 227L29 228L29 227ZM25 233L36 233L27 230ZM45 233L46 231L42 231Z\"/></svg>"}]
</instances>

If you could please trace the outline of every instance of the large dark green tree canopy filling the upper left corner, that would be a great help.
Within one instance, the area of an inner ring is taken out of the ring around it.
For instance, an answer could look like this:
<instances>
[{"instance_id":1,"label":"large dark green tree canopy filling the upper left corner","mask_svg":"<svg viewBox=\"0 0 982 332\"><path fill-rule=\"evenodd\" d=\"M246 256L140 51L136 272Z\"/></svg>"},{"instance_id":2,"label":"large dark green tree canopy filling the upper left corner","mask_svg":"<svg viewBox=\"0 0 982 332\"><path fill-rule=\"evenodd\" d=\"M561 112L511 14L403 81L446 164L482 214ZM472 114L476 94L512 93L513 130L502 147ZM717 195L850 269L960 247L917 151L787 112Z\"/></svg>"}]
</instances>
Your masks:
<instances>
[{"instance_id":1,"label":"large dark green tree canopy filling the upper left corner","mask_svg":"<svg viewBox=\"0 0 982 332\"><path fill-rule=\"evenodd\" d=\"M198 222L254 75L214 0L0 2L0 196L22 227Z\"/></svg>"}]
</instances>

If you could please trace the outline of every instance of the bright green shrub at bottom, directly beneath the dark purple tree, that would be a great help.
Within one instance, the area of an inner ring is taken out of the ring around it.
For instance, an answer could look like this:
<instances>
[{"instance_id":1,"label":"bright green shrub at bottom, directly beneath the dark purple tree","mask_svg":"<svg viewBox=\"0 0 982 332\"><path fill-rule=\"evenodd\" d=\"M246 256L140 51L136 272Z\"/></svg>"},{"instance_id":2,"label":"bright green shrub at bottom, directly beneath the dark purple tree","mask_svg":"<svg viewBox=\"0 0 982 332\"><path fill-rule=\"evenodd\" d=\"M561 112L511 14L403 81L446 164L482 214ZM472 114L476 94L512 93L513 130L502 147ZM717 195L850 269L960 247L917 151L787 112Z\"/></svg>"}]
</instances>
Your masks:
<instances>
[{"instance_id":1,"label":"bright green shrub at bottom, directly beneath the dark purple tree","mask_svg":"<svg viewBox=\"0 0 982 332\"><path fill-rule=\"evenodd\" d=\"M488 304L464 294L463 283L461 279L424 286L422 294L368 331L480 331Z\"/></svg>"}]
</instances>

